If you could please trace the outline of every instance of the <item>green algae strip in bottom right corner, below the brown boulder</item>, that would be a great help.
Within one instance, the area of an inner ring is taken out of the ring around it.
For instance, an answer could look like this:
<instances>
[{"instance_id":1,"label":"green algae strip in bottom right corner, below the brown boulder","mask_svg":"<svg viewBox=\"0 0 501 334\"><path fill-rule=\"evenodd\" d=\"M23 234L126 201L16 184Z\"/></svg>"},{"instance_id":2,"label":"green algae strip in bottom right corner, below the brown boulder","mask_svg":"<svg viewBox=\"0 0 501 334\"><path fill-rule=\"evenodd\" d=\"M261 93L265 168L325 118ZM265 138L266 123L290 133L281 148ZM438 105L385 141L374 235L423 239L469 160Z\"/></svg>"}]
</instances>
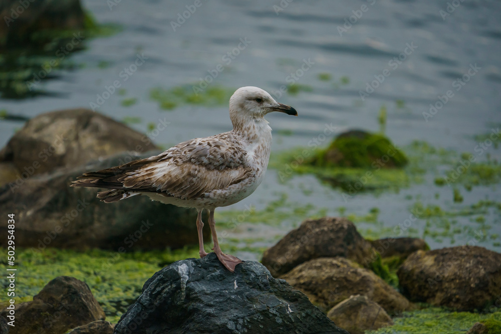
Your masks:
<instances>
[{"instance_id":1,"label":"green algae strip in bottom right corner, below the brown boulder","mask_svg":"<svg viewBox=\"0 0 501 334\"><path fill-rule=\"evenodd\" d=\"M497 329L501 311L493 313L455 312L440 307L425 307L403 312L394 317L394 324L366 334L460 334L468 331L475 322L488 323ZM496 333L496 331L494 331Z\"/></svg>"}]
</instances>

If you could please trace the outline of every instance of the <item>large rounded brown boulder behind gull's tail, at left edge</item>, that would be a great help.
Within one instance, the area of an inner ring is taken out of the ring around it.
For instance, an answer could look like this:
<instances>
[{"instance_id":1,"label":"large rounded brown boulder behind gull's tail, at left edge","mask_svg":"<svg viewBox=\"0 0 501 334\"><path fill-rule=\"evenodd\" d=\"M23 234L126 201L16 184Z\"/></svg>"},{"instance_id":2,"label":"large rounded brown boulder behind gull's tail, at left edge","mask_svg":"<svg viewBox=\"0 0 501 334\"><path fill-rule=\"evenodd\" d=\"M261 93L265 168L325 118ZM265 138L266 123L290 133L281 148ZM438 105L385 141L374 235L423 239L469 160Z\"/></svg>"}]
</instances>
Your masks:
<instances>
[{"instance_id":1,"label":"large rounded brown boulder behind gull's tail, at left edge","mask_svg":"<svg viewBox=\"0 0 501 334\"><path fill-rule=\"evenodd\" d=\"M154 149L146 135L92 110L49 112L26 122L0 151L0 170L6 170L0 175L9 177L13 167L18 171L14 179L0 179L0 185L9 183L16 192L35 175L122 152Z\"/></svg>"}]
</instances>

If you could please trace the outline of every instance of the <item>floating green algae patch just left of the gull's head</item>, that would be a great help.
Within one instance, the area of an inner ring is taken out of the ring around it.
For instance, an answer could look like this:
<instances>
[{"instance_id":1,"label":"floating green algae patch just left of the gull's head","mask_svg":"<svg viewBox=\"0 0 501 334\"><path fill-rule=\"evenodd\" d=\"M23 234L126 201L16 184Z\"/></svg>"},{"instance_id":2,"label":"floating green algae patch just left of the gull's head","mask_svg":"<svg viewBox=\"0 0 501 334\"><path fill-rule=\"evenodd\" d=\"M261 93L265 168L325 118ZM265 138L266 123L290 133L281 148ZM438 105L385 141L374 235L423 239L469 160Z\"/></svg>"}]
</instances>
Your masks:
<instances>
[{"instance_id":1,"label":"floating green algae patch just left of the gull's head","mask_svg":"<svg viewBox=\"0 0 501 334\"><path fill-rule=\"evenodd\" d=\"M160 109L163 110L173 110L183 105L212 107L228 103L234 91L232 88L216 85L203 90L198 89L196 85L177 86L171 89L157 87L150 90L150 99L158 102Z\"/></svg>"}]
</instances>

